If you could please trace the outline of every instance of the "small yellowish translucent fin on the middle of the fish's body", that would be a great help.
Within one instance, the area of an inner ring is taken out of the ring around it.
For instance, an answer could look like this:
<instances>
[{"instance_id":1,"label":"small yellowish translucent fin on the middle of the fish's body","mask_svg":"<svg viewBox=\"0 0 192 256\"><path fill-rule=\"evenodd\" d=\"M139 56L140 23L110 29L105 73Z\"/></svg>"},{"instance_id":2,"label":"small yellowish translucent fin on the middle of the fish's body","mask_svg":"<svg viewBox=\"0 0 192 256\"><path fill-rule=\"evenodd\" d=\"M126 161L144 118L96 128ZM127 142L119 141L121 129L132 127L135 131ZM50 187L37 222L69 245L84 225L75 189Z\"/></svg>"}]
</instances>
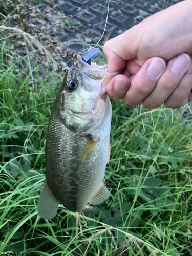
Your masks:
<instances>
[{"instance_id":1,"label":"small yellowish translucent fin on the middle of the fish's body","mask_svg":"<svg viewBox=\"0 0 192 256\"><path fill-rule=\"evenodd\" d=\"M98 139L97 141L94 141L92 139L88 139L86 145L84 146L84 148L81 152L81 157L80 157L81 162L89 161L92 158L93 153L94 153L95 148L96 148L96 145L99 141L100 141L100 139Z\"/></svg>"}]
</instances>

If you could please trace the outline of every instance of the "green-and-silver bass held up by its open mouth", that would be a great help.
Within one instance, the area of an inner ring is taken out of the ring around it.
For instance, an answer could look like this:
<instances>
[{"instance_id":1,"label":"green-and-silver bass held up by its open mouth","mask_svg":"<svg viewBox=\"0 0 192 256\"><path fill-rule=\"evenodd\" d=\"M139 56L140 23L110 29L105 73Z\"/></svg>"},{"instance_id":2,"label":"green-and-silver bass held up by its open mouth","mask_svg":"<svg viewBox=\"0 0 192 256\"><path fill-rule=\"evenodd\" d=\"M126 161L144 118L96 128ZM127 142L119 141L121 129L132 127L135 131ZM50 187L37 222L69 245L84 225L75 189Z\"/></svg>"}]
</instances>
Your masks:
<instances>
[{"instance_id":1,"label":"green-and-silver bass held up by its open mouth","mask_svg":"<svg viewBox=\"0 0 192 256\"><path fill-rule=\"evenodd\" d=\"M103 179L110 160L112 118L107 87L115 73L108 72L108 65L91 63L92 53L84 55L84 60L76 55L51 111L46 181L38 202L38 215L44 219L55 217L59 203L80 212L111 196Z\"/></svg>"}]
</instances>

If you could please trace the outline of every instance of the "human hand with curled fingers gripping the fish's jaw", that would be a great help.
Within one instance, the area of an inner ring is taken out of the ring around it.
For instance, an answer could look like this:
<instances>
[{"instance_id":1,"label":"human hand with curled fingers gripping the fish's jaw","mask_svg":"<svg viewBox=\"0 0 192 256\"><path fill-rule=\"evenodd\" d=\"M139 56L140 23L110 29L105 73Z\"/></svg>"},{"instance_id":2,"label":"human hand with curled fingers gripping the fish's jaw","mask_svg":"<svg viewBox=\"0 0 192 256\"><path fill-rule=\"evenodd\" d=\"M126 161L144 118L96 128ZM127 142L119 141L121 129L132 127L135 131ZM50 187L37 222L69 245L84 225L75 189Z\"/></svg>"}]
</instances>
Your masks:
<instances>
[{"instance_id":1,"label":"human hand with curled fingers gripping the fish's jaw","mask_svg":"<svg viewBox=\"0 0 192 256\"><path fill-rule=\"evenodd\" d=\"M108 93L128 105L163 103L179 108L192 100L192 1L154 14L103 48L108 71L124 68Z\"/></svg>"}]
</instances>

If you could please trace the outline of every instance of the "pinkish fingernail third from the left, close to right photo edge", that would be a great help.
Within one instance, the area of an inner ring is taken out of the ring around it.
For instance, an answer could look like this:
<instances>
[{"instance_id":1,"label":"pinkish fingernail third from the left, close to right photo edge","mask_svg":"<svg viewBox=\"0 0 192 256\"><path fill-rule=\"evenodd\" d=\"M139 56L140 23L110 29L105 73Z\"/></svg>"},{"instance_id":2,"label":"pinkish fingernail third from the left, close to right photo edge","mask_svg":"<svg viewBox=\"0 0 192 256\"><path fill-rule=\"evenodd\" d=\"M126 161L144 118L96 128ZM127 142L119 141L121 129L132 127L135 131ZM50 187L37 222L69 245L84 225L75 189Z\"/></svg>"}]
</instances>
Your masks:
<instances>
[{"instance_id":1,"label":"pinkish fingernail third from the left, close to right photo edge","mask_svg":"<svg viewBox=\"0 0 192 256\"><path fill-rule=\"evenodd\" d=\"M190 57L187 54L181 54L174 60L171 68L172 72L176 74L182 73L186 69L189 61Z\"/></svg>"}]
</instances>

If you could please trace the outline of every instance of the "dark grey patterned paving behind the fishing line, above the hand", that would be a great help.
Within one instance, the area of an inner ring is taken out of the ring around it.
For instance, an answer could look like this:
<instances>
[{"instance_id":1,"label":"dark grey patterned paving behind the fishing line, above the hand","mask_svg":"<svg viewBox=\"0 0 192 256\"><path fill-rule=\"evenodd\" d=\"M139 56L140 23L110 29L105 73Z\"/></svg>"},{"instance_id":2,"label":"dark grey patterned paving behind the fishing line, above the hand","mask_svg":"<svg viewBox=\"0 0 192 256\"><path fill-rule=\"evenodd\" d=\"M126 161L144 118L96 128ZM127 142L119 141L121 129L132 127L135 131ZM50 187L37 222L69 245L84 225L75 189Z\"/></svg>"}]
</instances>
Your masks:
<instances>
[{"instance_id":1,"label":"dark grey patterned paving behind the fishing line, above the hand","mask_svg":"<svg viewBox=\"0 0 192 256\"><path fill-rule=\"evenodd\" d=\"M108 0L54 0L58 10L63 11L75 22L75 27L69 29L58 38L69 41L66 47L81 51L83 42L96 43L101 37L105 25ZM101 41L117 36L133 27L146 17L176 4L178 0L111 0L108 25ZM73 44L74 43L74 44Z\"/></svg>"}]
</instances>

